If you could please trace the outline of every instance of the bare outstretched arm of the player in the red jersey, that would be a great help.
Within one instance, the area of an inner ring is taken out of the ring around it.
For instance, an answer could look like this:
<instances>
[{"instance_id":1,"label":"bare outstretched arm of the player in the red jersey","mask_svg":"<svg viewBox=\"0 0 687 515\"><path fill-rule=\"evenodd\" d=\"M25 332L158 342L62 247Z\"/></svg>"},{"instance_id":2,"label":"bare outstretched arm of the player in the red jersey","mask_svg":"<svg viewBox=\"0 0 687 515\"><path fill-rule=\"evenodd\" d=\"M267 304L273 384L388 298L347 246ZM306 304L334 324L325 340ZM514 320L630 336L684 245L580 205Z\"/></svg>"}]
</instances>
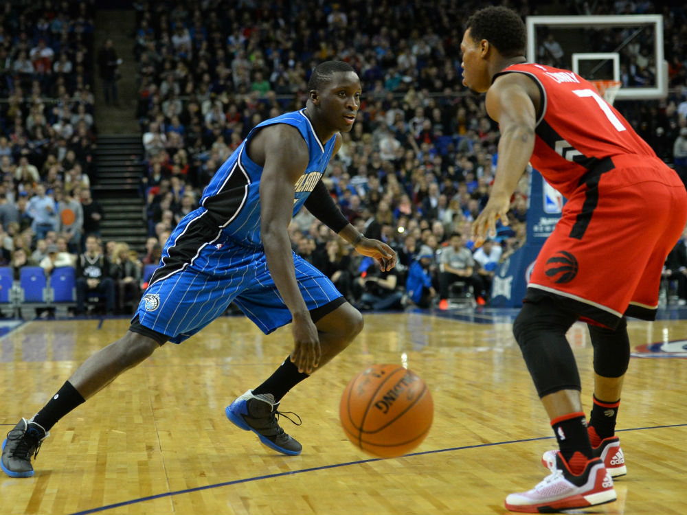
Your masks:
<instances>
[{"instance_id":1,"label":"bare outstretched arm of the player in the red jersey","mask_svg":"<svg viewBox=\"0 0 687 515\"><path fill-rule=\"evenodd\" d=\"M534 99L532 97L535 97ZM510 196L534 151L534 129L539 90L522 73L506 73L486 93L486 112L499 123L499 161L489 200L472 225L472 238L479 247L487 236L496 236L496 221L508 225Z\"/></svg>"}]
</instances>

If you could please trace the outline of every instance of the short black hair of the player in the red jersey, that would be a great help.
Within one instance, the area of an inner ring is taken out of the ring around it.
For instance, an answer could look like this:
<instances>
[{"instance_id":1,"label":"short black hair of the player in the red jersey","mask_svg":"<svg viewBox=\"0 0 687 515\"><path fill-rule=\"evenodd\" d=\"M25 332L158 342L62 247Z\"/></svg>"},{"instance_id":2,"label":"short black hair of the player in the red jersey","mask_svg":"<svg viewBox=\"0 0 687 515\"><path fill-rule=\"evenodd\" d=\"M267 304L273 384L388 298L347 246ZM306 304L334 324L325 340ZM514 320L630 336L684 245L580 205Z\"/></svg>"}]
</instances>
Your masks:
<instances>
[{"instance_id":1,"label":"short black hair of the player in the red jersey","mask_svg":"<svg viewBox=\"0 0 687 515\"><path fill-rule=\"evenodd\" d=\"M474 41L486 39L504 57L525 54L527 31L514 10L495 5L480 9L470 16L466 28Z\"/></svg>"}]
</instances>

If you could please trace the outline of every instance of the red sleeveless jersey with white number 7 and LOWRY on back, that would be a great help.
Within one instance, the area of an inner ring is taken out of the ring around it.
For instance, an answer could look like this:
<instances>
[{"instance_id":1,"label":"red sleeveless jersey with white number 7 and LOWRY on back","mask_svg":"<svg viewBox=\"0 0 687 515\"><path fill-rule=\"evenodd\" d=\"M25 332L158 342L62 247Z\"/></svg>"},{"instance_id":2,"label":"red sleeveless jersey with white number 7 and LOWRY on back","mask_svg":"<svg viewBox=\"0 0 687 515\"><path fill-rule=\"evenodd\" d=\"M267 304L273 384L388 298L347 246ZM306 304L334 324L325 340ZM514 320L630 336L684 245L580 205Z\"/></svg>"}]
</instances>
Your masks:
<instances>
[{"instance_id":1,"label":"red sleeveless jersey with white number 7 and LOWRY on back","mask_svg":"<svg viewBox=\"0 0 687 515\"><path fill-rule=\"evenodd\" d=\"M541 108L530 162L566 198L605 157L656 157L627 120L576 73L524 64L511 65L495 78L504 73L523 73L539 86Z\"/></svg>"}]
</instances>

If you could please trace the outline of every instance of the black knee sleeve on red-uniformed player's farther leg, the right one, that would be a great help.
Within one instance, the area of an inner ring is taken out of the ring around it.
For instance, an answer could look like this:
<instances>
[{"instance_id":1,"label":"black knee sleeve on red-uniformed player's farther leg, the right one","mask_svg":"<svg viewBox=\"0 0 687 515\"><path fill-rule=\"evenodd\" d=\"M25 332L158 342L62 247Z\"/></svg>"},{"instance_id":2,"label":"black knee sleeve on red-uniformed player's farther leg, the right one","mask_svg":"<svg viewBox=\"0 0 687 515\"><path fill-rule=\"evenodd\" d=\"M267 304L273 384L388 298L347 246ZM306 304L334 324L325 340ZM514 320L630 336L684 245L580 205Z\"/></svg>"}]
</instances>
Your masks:
<instances>
[{"instance_id":1,"label":"black knee sleeve on red-uniformed player's farther leg, the right one","mask_svg":"<svg viewBox=\"0 0 687 515\"><path fill-rule=\"evenodd\" d=\"M616 378L627 371L630 363L630 339L623 318L615 330L588 325L594 346L594 371L599 376Z\"/></svg>"}]
</instances>

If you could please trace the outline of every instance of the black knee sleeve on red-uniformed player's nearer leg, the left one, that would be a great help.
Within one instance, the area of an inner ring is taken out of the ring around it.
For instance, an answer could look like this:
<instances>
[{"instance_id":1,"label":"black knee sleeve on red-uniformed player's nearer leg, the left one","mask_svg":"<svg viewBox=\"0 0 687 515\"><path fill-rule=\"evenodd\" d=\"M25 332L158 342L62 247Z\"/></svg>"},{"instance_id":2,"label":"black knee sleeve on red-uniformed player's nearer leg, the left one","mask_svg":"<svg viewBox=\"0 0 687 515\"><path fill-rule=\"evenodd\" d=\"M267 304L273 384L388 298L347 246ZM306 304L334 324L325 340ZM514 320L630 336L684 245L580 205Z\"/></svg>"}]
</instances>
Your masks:
<instances>
[{"instance_id":1,"label":"black knee sleeve on red-uniformed player's nearer leg, the left one","mask_svg":"<svg viewBox=\"0 0 687 515\"><path fill-rule=\"evenodd\" d=\"M540 398L582 389L575 356L565 339L577 318L550 302L526 302L513 323L515 340Z\"/></svg>"}]
</instances>

